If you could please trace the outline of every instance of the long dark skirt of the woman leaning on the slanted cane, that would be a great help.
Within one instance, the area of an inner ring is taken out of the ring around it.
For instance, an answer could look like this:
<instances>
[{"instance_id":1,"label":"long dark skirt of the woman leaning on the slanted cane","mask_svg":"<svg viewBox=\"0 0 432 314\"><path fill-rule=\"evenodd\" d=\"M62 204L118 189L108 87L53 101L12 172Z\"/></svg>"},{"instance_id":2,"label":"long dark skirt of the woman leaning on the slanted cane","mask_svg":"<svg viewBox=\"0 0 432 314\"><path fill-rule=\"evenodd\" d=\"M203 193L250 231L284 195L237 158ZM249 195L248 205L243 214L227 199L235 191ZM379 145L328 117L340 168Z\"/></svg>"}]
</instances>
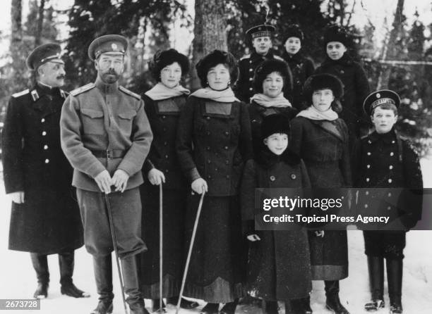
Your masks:
<instances>
[{"instance_id":1,"label":"long dark skirt of the woman leaning on the slanted cane","mask_svg":"<svg viewBox=\"0 0 432 314\"><path fill-rule=\"evenodd\" d=\"M186 249L199 200L198 194L188 197ZM212 303L232 302L243 296L243 243L237 196L205 196L184 295Z\"/></svg>"}]
</instances>

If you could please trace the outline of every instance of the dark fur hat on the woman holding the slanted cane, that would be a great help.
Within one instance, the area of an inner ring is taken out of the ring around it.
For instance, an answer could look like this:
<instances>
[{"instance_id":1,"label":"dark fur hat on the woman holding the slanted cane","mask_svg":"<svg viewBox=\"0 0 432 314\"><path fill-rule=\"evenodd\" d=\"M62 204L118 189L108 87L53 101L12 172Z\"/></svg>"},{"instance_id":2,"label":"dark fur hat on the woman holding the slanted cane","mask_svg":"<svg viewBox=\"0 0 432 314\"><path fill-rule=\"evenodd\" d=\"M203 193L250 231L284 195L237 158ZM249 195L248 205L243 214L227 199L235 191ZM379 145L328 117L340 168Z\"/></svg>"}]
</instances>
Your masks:
<instances>
[{"instance_id":1,"label":"dark fur hat on the woman holding the slanted cane","mask_svg":"<svg viewBox=\"0 0 432 314\"><path fill-rule=\"evenodd\" d=\"M227 51L213 50L195 65L196 73L200 78L202 87L207 86L208 70L218 64L227 65L229 69L229 76L231 77L231 84L236 82L237 76L239 75L239 68L237 68L236 58L234 58L234 56Z\"/></svg>"}]
</instances>

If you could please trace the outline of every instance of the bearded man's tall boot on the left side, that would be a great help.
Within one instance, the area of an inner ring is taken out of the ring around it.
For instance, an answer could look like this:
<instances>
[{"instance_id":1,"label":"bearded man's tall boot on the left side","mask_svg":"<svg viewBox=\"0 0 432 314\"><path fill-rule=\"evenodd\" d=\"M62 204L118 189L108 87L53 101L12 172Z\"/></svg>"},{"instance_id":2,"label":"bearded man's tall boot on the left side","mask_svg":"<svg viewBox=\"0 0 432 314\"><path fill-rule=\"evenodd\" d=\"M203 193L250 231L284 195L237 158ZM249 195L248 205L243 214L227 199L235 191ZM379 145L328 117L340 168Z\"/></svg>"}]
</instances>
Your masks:
<instances>
[{"instance_id":1,"label":"bearded man's tall boot on the left side","mask_svg":"<svg viewBox=\"0 0 432 314\"><path fill-rule=\"evenodd\" d=\"M111 254L107 256L93 256L93 268L95 270L95 281L99 303L90 314L112 313L112 259Z\"/></svg>"}]
</instances>

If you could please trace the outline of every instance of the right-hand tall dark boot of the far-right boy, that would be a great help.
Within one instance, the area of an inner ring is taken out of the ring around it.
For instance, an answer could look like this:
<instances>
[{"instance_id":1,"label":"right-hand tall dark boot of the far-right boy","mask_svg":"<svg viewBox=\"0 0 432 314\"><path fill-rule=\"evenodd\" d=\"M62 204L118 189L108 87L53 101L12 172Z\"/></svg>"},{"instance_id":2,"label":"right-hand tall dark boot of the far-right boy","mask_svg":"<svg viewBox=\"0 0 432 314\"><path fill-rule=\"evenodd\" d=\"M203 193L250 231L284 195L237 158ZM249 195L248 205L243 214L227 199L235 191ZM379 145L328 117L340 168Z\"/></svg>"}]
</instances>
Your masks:
<instances>
[{"instance_id":1,"label":"right-hand tall dark boot of the far-right boy","mask_svg":"<svg viewBox=\"0 0 432 314\"><path fill-rule=\"evenodd\" d=\"M402 259L386 259L390 314L401 314L402 309Z\"/></svg>"}]
</instances>

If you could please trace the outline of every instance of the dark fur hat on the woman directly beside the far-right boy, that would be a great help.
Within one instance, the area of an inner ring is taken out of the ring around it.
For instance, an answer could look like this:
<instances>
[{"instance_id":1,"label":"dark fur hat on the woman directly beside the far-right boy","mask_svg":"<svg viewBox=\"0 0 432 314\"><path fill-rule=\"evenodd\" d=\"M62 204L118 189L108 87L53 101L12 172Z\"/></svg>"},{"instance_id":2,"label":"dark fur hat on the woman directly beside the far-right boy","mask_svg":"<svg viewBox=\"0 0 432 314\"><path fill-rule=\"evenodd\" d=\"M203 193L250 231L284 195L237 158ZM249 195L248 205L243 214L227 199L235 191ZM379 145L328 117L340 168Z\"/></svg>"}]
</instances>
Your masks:
<instances>
[{"instance_id":1,"label":"dark fur hat on the woman directly beside the far-right boy","mask_svg":"<svg viewBox=\"0 0 432 314\"><path fill-rule=\"evenodd\" d=\"M313 92L319 89L331 89L335 99L340 99L344 96L344 84L342 84L339 78L328 73L321 73L311 75L306 82L304 82L304 99L310 103Z\"/></svg>"}]
</instances>

